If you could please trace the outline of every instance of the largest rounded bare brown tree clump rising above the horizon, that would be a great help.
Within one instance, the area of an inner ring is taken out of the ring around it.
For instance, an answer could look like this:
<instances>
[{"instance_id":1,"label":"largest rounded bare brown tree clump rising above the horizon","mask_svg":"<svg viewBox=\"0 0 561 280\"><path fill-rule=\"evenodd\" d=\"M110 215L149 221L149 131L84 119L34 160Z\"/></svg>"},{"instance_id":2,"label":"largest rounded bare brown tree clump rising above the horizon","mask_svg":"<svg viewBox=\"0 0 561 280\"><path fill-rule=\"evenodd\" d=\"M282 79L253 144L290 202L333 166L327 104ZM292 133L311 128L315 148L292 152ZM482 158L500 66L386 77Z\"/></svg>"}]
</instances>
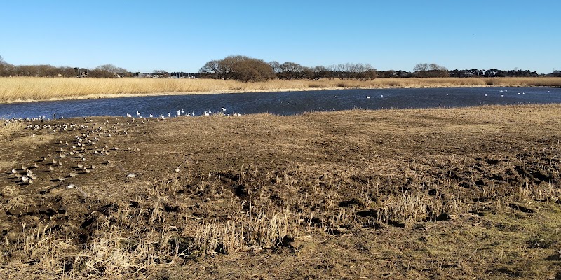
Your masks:
<instances>
[{"instance_id":1,"label":"largest rounded bare brown tree clump rising above the horizon","mask_svg":"<svg viewBox=\"0 0 561 280\"><path fill-rule=\"evenodd\" d=\"M255 82L271 80L275 73L270 64L261 59L232 55L221 60L211 60L198 71L206 78Z\"/></svg>"}]
</instances>

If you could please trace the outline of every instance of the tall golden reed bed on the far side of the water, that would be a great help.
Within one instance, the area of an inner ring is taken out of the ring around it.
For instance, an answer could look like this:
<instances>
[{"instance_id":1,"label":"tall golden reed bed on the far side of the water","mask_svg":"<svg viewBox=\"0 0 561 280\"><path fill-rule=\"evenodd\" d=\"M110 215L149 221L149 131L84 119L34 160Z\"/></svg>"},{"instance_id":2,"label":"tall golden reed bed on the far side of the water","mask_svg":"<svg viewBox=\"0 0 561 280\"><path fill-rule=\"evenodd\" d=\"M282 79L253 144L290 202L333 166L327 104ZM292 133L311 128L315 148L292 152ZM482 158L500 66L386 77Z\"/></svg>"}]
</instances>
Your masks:
<instances>
[{"instance_id":1,"label":"tall golden reed bed on the far side of the water","mask_svg":"<svg viewBox=\"0 0 561 280\"><path fill-rule=\"evenodd\" d=\"M358 80L235 80L151 78L0 78L0 102L54 99L92 99L130 95L325 90L387 87L561 87L561 78L378 78Z\"/></svg>"}]
</instances>

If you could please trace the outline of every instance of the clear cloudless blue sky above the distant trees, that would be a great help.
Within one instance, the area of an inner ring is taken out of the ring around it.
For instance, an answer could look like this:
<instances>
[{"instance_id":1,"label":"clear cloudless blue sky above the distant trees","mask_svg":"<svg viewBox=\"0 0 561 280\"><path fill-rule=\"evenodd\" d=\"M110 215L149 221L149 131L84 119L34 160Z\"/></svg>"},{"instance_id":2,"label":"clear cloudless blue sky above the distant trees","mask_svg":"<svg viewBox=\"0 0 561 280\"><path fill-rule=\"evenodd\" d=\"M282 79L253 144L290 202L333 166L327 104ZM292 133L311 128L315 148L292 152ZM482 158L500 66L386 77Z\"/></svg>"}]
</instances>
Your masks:
<instances>
[{"instance_id":1,"label":"clear cloudless blue sky above the distant trees","mask_svg":"<svg viewBox=\"0 0 561 280\"><path fill-rule=\"evenodd\" d=\"M15 65L196 72L247 55L379 70L561 69L559 0L0 0L0 15L0 55Z\"/></svg>"}]
</instances>

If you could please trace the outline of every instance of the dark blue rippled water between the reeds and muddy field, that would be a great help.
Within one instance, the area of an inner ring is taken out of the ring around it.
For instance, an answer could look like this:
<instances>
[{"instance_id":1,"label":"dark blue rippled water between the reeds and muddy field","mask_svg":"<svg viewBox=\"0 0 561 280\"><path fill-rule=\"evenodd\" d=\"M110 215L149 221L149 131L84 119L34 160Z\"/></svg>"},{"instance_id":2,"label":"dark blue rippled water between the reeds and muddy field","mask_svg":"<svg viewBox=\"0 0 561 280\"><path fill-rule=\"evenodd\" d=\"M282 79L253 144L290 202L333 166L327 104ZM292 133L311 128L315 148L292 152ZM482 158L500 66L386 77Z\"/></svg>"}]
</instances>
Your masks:
<instances>
[{"instance_id":1,"label":"dark blue rippled water between the reeds and muddy field","mask_svg":"<svg viewBox=\"0 0 561 280\"><path fill-rule=\"evenodd\" d=\"M484 104L561 103L561 88L470 87L384 90L318 90L304 92L257 92L236 94L173 95L110 99L24 102L0 104L0 118L56 118L64 116L177 116L204 111L225 114L264 113L293 115L306 111L348 109L464 107Z\"/></svg>"}]
</instances>

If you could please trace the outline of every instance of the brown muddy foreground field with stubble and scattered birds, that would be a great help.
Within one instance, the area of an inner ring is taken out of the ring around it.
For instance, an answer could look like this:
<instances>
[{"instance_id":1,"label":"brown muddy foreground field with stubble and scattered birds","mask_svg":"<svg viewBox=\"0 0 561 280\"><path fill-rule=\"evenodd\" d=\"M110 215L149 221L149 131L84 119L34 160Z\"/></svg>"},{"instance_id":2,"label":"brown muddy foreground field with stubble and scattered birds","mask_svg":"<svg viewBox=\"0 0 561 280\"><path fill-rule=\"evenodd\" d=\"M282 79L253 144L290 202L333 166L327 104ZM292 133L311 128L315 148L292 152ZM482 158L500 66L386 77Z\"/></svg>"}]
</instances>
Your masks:
<instances>
[{"instance_id":1,"label":"brown muddy foreground field with stubble and scattered birds","mask_svg":"<svg viewBox=\"0 0 561 280\"><path fill-rule=\"evenodd\" d=\"M0 279L559 279L560 127L561 105L6 123Z\"/></svg>"}]
</instances>

